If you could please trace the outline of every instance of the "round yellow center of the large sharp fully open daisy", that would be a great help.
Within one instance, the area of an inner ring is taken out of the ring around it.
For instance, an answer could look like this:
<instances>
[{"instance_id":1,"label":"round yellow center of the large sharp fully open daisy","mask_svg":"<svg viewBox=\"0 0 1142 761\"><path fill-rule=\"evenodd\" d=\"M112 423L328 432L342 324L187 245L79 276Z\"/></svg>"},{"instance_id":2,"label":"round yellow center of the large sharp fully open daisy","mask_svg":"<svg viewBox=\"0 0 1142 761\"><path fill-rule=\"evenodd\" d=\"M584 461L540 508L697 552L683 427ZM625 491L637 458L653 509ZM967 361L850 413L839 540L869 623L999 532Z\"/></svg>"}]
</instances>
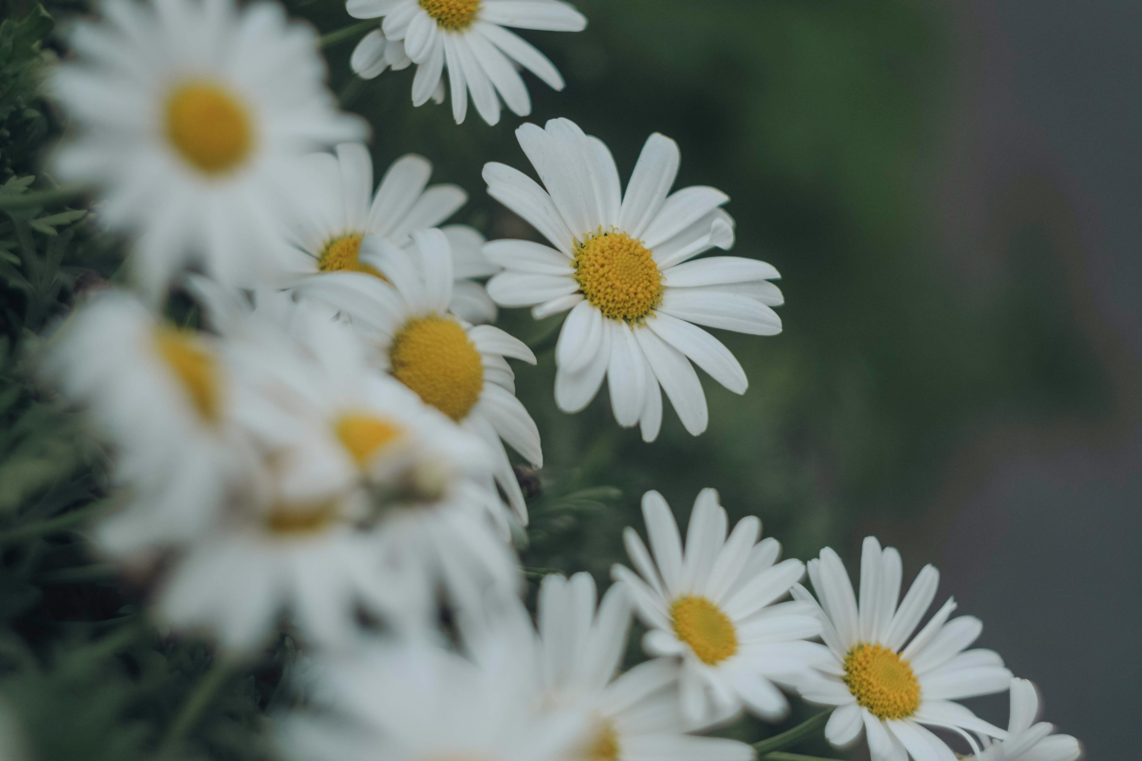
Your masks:
<instances>
[{"instance_id":1,"label":"round yellow center of the large sharp fully open daisy","mask_svg":"<svg viewBox=\"0 0 1142 761\"><path fill-rule=\"evenodd\" d=\"M626 233L592 233L576 243L574 280L604 317L637 323L662 300L662 275L650 249Z\"/></svg>"}]
</instances>

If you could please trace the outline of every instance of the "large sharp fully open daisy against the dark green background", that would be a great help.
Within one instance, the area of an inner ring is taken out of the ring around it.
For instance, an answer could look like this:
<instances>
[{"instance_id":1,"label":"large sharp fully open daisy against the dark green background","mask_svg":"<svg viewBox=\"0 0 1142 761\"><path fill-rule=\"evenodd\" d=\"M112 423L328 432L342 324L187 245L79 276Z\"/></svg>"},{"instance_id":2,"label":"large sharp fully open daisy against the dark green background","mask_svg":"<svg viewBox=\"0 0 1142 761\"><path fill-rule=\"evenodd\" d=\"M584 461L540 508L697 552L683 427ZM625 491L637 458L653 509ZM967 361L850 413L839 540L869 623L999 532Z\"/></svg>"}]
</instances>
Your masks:
<instances>
[{"instance_id":1,"label":"large sharp fully open daisy against the dark green background","mask_svg":"<svg viewBox=\"0 0 1142 761\"><path fill-rule=\"evenodd\" d=\"M691 362L743 394L746 373L725 346L698 325L755 335L781 332L771 309L781 292L764 261L710 257L733 244L729 197L711 187L673 194L678 146L652 135L624 196L606 146L566 119L547 129L524 124L520 145L544 188L510 167L489 163L492 197L550 243L492 241L484 253L506 272L488 292L504 307L533 306L539 319L571 310L555 347L555 402L578 412L608 379L620 426L642 426L648 442L662 422L659 386L686 430L706 430L706 396Z\"/></svg>"}]
</instances>

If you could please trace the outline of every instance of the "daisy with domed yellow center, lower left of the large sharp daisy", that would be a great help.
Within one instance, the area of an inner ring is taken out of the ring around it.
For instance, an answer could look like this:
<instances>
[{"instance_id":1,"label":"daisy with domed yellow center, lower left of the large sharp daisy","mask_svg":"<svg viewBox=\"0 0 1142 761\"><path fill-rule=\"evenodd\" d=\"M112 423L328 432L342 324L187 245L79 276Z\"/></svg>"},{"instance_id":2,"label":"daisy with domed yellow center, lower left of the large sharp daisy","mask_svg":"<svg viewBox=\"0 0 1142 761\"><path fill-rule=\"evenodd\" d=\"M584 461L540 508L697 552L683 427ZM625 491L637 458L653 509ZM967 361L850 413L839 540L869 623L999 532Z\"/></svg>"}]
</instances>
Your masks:
<instances>
[{"instance_id":1,"label":"daisy with domed yellow center, lower left of the large sharp daisy","mask_svg":"<svg viewBox=\"0 0 1142 761\"><path fill-rule=\"evenodd\" d=\"M378 366L486 442L496 458L496 483L526 525L523 492L501 439L534 467L542 465L539 429L515 398L515 375L506 361L536 364L536 357L500 329L473 326L450 313L455 278L448 238L437 229L415 232L412 238L404 249L380 237L364 238L361 261L385 276L388 283L378 281L373 288L387 296L359 299L346 309Z\"/></svg>"}]
</instances>

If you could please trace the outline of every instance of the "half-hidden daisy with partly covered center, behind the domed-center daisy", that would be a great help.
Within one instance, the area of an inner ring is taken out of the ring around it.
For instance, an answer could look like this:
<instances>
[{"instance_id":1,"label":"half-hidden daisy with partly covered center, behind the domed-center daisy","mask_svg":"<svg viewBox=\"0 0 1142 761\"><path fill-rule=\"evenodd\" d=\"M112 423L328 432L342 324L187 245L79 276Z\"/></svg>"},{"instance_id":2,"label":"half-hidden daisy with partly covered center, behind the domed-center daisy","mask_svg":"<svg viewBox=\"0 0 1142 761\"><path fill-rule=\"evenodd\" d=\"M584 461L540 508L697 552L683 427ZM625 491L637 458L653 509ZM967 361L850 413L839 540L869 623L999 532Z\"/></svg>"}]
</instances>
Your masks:
<instances>
[{"instance_id":1,"label":"half-hidden daisy with partly covered center, behind the domed-center daisy","mask_svg":"<svg viewBox=\"0 0 1142 761\"><path fill-rule=\"evenodd\" d=\"M280 274L283 285L297 285L303 293L324 293L324 289L306 285L325 273L356 272L380 277L376 268L360 259L364 236L379 235L399 246L408 245L415 230L437 227L468 200L468 194L456 185L427 186L432 164L416 155L397 159L376 193L372 159L369 148L360 143L343 143L336 156L316 153L306 161L307 197L292 216L291 240L282 251ZM481 253L484 236L467 225L441 229L452 249L452 274L457 278L449 308L471 323L493 322L496 305L483 285L468 280L499 272ZM343 280L335 278L333 283Z\"/></svg>"}]
</instances>

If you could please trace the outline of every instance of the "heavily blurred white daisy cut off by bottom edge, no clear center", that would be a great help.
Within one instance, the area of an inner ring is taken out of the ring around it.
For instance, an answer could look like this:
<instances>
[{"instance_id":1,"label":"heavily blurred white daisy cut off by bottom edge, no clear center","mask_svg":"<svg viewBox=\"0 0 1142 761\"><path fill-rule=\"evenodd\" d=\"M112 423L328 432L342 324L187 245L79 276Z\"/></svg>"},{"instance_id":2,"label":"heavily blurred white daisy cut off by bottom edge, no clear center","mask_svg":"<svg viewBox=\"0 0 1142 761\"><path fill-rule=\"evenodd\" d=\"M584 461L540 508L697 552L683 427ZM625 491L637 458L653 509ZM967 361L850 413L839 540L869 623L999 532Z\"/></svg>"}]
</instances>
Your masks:
<instances>
[{"instance_id":1,"label":"heavily blurred white daisy cut off by bottom edge, no clear center","mask_svg":"<svg viewBox=\"0 0 1142 761\"><path fill-rule=\"evenodd\" d=\"M426 638L425 638L426 639ZM490 672L420 641L377 642L322 662L324 715L293 714L279 736L291 761L562 761L581 732L568 713L537 717L523 672Z\"/></svg>"}]
</instances>

